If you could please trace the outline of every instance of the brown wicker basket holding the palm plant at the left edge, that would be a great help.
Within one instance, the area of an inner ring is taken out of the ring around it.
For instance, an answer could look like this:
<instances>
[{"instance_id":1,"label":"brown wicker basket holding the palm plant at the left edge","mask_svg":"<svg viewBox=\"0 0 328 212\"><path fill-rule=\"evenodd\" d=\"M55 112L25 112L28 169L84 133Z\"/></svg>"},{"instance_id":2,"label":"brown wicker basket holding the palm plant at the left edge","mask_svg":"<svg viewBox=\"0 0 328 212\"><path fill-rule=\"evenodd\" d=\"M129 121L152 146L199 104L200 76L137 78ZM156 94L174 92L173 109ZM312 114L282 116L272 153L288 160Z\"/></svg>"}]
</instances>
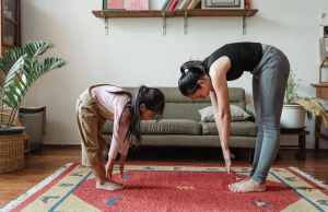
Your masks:
<instances>
[{"instance_id":1,"label":"brown wicker basket holding the palm plant at the left edge","mask_svg":"<svg viewBox=\"0 0 328 212\"><path fill-rule=\"evenodd\" d=\"M0 136L0 174L24 167L24 133Z\"/></svg>"}]
</instances>

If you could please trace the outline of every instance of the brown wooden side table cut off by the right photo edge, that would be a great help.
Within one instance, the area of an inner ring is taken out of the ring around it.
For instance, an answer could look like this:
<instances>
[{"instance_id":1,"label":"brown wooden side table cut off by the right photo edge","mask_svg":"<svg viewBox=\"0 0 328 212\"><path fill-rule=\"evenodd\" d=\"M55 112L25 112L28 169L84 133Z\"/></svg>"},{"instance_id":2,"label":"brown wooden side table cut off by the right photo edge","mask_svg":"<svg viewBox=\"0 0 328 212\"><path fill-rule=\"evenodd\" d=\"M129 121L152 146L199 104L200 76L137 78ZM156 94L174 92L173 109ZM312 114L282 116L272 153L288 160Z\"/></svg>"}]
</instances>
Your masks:
<instances>
[{"instance_id":1,"label":"brown wooden side table cut off by the right photo edge","mask_svg":"<svg viewBox=\"0 0 328 212\"><path fill-rule=\"evenodd\" d=\"M321 82L317 84L312 84L316 89L316 97L328 99L328 82ZM315 117L315 149L319 150L319 140L328 140L328 137L321 133L321 118L319 116Z\"/></svg>"}]
</instances>

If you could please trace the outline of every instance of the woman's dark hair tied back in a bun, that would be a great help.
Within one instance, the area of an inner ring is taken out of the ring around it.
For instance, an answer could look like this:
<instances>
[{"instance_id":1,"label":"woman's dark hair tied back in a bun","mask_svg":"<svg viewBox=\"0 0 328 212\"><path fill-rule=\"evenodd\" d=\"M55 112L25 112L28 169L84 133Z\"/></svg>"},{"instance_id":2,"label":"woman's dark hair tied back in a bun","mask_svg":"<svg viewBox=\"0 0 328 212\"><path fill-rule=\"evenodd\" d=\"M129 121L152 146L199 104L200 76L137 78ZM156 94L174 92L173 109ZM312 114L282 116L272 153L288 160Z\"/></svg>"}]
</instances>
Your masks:
<instances>
[{"instance_id":1,"label":"woman's dark hair tied back in a bun","mask_svg":"<svg viewBox=\"0 0 328 212\"><path fill-rule=\"evenodd\" d=\"M200 60L191 60L185 62L180 67L181 76L178 81L178 87L183 95L192 95L198 89L198 80L200 80L208 71Z\"/></svg>"}]
</instances>

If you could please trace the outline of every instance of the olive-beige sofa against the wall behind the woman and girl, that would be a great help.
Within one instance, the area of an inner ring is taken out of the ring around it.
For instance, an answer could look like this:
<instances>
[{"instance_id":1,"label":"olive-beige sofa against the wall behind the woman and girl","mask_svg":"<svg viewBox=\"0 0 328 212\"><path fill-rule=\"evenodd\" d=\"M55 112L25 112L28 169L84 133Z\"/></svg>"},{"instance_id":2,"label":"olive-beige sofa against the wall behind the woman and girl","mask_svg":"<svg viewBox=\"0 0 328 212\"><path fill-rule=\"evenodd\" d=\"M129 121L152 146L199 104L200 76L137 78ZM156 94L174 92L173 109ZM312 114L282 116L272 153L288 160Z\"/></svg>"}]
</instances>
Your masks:
<instances>
[{"instance_id":1,"label":"olive-beige sofa against the wall behind the woman and girl","mask_svg":"<svg viewBox=\"0 0 328 212\"><path fill-rule=\"evenodd\" d=\"M183 96L177 87L159 87L165 94L165 110L160 121L142 121L141 145L156 146L220 146L214 122L200 121L199 109L211 105L209 98L191 101ZM127 90L136 90L128 87ZM245 91L230 87L230 103L246 109ZM113 123L107 122L103 136L110 141ZM109 137L109 138L108 138ZM253 121L232 122L230 146L254 149L256 125Z\"/></svg>"}]
</instances>

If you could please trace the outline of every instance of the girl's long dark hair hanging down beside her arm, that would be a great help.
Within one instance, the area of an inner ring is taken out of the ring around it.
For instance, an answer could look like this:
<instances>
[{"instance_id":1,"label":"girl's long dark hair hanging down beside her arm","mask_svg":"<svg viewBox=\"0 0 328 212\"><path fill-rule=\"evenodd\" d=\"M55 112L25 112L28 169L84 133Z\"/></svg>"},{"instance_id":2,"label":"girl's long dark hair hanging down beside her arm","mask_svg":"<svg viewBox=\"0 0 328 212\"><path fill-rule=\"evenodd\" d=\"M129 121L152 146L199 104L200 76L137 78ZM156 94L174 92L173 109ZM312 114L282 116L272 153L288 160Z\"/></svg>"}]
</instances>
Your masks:
<instances>
[{"instance_id":1,"label":"girl's long dark hair hanging down beside her arm","mask_svg":"<svg viewBox=\"0 0 328 212\"><path fill-rule=\"evenodd\" d=\"M134 143L141 142L140 132L140 105L144 104L147 109L156 113L157 116L162 116L165 106L165 96L159 90L154 87L140 86L134 98L127 105L131 111L131 122L126 134L126 139L134 141Z\"/></svg>"}]
</instances>

